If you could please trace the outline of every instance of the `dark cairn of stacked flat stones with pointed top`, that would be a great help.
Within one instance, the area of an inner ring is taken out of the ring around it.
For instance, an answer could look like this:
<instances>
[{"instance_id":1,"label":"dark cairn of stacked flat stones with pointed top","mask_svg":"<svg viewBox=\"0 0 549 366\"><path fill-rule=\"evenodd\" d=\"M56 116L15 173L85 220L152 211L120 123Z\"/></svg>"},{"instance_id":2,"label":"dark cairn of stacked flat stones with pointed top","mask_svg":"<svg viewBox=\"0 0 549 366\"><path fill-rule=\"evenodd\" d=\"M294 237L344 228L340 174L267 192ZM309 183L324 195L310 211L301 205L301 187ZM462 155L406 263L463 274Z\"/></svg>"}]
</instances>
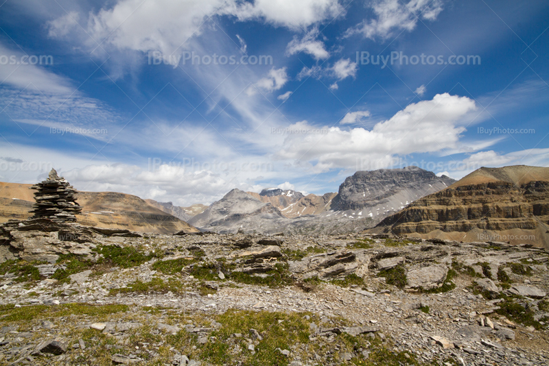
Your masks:
<instances>
[{"instance_id":1,"label":"dark cairn of stacked flat stones with pointed top","mask_svg":"<svg viewBox=\"0 0 549 366\"><path fill-rule=\"evenodd\" d=\"M75 215L82 211L82 207L76 202L76 190L65 178L57 175L55 169L51 169L47 180L34 184L30 189L35 189L32 206L34 213L32 219L47 218L55 222L74 222Z\"/></svg>"}]
</instances>

